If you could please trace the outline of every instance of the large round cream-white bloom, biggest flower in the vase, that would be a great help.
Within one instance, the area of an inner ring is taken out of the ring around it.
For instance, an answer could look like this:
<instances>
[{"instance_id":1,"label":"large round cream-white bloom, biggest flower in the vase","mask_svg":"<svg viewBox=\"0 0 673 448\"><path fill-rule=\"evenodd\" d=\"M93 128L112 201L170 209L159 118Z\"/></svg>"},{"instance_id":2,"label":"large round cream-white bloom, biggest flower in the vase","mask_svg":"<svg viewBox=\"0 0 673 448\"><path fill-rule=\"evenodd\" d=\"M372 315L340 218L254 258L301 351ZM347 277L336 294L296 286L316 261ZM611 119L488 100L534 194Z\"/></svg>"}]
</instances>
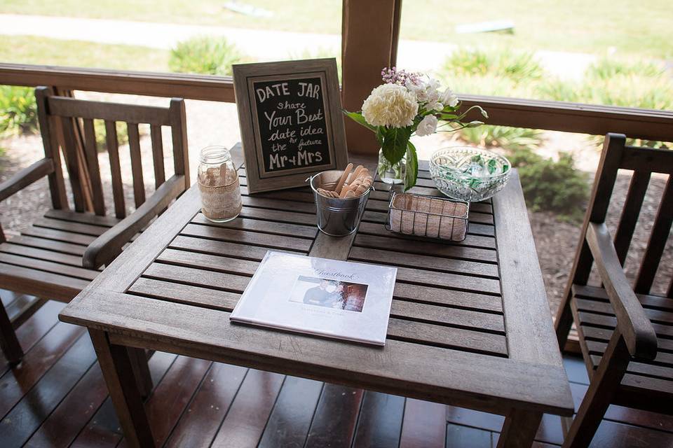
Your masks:
<instances>
[{"instance_id":1,"label":"large round cream-white bloom, biggest flower in the vase","mask_svg":"<svg viewBox=\"0 0 673 448\"><path fill-rule=\"evenodd\" d=\"M419 103L403 85L379 85L362 103L362 116L372 126L411 126L417 113Z\"/></svg>"}]
</instances>

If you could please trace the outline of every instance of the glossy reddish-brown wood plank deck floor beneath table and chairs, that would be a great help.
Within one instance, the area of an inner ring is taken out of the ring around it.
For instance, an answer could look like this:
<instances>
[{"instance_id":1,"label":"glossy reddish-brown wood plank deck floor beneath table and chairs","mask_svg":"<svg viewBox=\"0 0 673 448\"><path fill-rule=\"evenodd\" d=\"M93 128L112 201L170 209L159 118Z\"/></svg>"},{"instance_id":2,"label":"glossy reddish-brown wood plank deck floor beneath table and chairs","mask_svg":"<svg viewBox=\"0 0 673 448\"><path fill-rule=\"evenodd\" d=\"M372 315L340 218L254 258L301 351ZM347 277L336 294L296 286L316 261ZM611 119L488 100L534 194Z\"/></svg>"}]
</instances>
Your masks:
<instances>
[{"instance_id":1,"label":"glossy reddish-brown wood plank deck floor beneath table and chairs","mask_svg":"<svg viewBox=\"0 0 673 448\"><path fill-rule=\"evenodd\" d=\"M11 295L0 290L11 307ZM0 447L123 447L93 346L47 302L18 330L26 356L0 356ZM576 406L582 360L566 358ZM149 418L167 447L491 447L503 417L232 365L155 353ZM562 443L545 415L537 447ZM612 406L592 447L673 447L673 419Z\"/></svg>"}]
</instances>

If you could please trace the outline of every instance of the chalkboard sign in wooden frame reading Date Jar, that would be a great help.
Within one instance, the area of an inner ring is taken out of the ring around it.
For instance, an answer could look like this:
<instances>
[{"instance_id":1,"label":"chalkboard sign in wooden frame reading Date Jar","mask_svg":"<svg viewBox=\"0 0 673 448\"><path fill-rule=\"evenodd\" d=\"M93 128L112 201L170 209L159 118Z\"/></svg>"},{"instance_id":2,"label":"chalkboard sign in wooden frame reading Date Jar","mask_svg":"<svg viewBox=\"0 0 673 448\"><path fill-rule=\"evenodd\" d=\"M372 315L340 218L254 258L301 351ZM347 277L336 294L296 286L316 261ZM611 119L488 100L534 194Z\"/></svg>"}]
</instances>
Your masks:
<instances>
[{"instance_id":1,"label":"chalkboard sign in wooden frame reading Date Jar","mask_svg":"<svg viewBox=\"0 0 673 448\"><path fill-rule=\"evenodd\" d=\"M233 78L249 193L348 164L335 59L236 64Z\"/></svg>"}]
</instances>

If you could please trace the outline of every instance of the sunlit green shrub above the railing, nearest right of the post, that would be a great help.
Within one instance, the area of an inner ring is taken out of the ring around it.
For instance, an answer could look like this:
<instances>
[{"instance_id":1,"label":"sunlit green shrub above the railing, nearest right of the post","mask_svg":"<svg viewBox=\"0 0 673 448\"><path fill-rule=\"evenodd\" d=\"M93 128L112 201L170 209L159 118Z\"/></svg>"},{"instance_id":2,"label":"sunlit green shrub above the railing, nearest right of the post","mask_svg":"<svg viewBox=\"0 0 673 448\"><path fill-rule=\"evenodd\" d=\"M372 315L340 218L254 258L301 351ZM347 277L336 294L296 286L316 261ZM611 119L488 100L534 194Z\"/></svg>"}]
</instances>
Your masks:
<instances>
[{"instance_id":1,"label":"sunlit green shrub above the railing, nearest right of the post","mask_svg":"<svg viewBox=\"0 0 673 448\"><path fill-rule=\"evenodd\" d=\"M459 48L452 52L440 72L449 78L454 76L504 76L515 83L539 79L544 74L543 67L532 52L478 48Z\"/></svg>"}]
</instances>

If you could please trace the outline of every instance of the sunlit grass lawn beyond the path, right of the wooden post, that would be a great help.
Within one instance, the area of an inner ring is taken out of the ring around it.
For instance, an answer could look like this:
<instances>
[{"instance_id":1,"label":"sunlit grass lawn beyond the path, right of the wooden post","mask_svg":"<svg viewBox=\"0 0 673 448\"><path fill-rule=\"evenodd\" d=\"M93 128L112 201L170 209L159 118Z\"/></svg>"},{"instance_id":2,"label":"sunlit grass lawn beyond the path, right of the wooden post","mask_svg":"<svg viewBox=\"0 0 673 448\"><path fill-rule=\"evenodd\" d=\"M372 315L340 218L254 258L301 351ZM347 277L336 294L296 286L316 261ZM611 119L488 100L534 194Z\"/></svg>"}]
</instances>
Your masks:
<instances>
[{"instance_id":1,"label":"sunlit grass lawn beyond the path, right of the wooden post","mask_svg":"<svg viewBox=\"0 0 673 448\"><path fill-rule=\"evenodd\" d=\"M414 0L402 4L402 38L437 36L437 40L461 45L498 44L597 55L614 47L623 56L673 57L671 0L470 0L455 4ZM514 22L513 34L454 32L456 25L503 19Z\"/></svg>"}]
</instances>

